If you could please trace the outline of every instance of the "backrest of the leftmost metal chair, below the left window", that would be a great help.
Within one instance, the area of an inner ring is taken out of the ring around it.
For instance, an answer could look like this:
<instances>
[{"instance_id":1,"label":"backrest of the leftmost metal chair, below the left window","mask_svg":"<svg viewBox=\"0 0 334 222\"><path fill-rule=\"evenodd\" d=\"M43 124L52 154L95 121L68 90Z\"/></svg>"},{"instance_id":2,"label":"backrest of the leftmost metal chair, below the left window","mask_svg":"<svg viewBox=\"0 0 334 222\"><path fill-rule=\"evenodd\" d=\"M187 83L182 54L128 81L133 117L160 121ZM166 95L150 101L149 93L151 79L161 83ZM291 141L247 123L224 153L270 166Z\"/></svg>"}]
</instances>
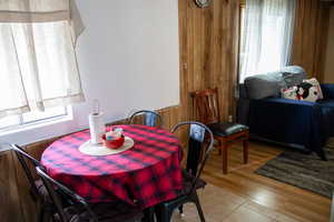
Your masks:
<instances>
[{"instance_id":1,"label":"backrest of the leftmost metal chair, below the left window","mask_svg":"<svg viewBox=\"0 0 334 222\"><path fill-rule=\"evenodd\" d=\"M38 193L38 188L35 183L35 179L32 175L31 170L28 167L28 163L26 162L26 160L30 161L33 167L41 167L40 162L38 160L36 160L35 158L32 158L29 153L27 153L21 147L17 145L17 144L11 144L11 149L16 152L17 158L26 173L26 176L28 178L30 188L31 188L31 194L32 198L35 200L37 200L39 198L39 193Z\"/></svg>"}]
</instances>

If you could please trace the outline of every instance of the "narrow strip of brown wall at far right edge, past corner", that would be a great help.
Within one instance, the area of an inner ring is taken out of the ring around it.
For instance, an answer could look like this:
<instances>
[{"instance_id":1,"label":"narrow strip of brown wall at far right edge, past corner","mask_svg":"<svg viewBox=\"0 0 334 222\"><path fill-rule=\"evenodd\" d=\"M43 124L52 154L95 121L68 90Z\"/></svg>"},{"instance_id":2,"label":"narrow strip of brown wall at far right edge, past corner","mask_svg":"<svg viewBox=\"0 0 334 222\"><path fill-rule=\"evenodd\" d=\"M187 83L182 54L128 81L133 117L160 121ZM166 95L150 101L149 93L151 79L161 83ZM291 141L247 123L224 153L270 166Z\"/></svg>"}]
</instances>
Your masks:
<instances>
[{"instance_id":1,"label":"narrow strip of brown wall at far right edge, past corner","mask_svg":"<svg viewBox=\"0 0 334 222\"><path fill-rule=\"evenodd\" d=\"M334 83L334 7L331 8L324 82Z\"/></svg>"}]
</instances>

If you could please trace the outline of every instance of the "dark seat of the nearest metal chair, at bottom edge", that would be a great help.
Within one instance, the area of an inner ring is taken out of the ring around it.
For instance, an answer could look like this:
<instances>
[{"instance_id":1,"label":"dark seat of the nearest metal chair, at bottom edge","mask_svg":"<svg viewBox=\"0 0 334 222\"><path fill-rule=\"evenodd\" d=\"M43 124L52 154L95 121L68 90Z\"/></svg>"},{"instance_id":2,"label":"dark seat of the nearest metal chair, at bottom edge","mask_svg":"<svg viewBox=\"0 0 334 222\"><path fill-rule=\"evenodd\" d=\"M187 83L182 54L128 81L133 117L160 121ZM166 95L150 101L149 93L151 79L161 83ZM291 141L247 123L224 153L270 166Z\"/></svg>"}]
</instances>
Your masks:
<instances>
[{"instance_id":1,"label":"dark seat of the nearest metal chair, at bottom edge","mask_svg":"<svg viewBox=\"0 0 334 222\"><path fill-rule=\"evenodd\" d=\"M139 222L144 216L138 209L120 202L96 203L91 204L90 208L99 222ZM79 205L66 208L65 213L70 219L70 222L91 221L91 215L85 208ZM56 221L60 221L57 214L55 219Z\"/></svg>"}]
</instances>

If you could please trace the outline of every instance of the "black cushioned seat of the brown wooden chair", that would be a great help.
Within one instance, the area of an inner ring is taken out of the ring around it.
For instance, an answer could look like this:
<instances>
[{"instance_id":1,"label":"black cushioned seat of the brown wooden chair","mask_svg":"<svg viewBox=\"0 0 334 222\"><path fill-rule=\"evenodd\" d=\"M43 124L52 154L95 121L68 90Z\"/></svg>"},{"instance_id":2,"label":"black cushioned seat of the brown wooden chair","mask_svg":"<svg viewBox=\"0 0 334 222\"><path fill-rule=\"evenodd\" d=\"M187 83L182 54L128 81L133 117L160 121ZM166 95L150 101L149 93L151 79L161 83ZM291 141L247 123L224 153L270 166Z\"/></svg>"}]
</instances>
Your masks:
<instances>
[{"instance_id":1,"label":"black cushioned seat of the brown wooden chair","mask_svg":"<svg viewBox=\"0 0 334 222\"><path fill-rule=\"evenodd\" d=\"M215 135L218 137L228 137L237 132L243 132L249 128L243 124L233 123L233 122L217 122L207 125Z\"/></svg>"}]
</instances>

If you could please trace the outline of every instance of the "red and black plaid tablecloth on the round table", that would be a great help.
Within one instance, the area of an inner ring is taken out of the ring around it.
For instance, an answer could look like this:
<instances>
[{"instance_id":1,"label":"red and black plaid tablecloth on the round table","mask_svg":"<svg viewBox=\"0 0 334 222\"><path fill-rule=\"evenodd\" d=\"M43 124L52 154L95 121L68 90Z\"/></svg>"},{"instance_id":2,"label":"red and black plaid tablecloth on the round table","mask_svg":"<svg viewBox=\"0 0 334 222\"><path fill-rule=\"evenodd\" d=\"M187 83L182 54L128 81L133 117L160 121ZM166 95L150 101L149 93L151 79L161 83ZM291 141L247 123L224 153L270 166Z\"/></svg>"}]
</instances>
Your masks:
<instances>
[{"instance_id":1,"label":"red and black plaid tablecloth on the round table","mask_svg":"<svg viewBox=\"0 0 334 222\"><path fill-rule=\"evenodd\" d=\"M134 139L134 148L115 155L86 155L78 148L90 139L87 130L53 142L41 163L53 179L90 202L136 200L145 209L176 198L183 154L177 138L157 128L116 127Z\"/></svg>"}]
</instances>

